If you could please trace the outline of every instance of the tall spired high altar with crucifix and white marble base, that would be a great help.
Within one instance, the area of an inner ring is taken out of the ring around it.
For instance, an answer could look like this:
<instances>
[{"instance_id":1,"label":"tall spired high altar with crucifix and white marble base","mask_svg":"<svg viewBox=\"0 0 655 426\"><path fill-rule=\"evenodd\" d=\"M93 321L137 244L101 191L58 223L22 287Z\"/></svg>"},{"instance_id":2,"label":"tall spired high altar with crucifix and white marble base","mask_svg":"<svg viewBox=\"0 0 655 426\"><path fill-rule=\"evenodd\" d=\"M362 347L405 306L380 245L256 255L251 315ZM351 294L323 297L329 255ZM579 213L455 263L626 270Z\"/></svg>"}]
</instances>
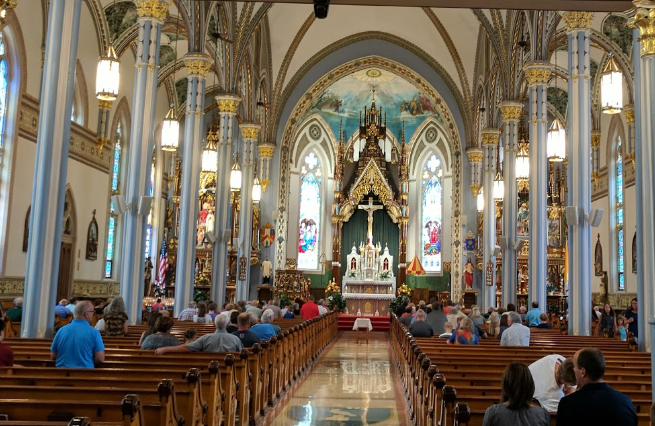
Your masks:
<instances>
[{"instance_id":1,"label":"tall spired high altar with crucifix and white marble base","mask_svg":"<svg viewBox=\"0 0 655 426\"><path fill-rule=\"evenodd\" d=\"M386 316L389 302L396 296L397 284L404 284L406 277L409 173L404 130L398 145L386 141L386 116L383 119L381 109L376 108L373 90L371 107L364 108L363 123L360 119L359 141L347 145L343 133L339 136L332 211L333 259L342 259L342 248L347 252L349 247L344 246L348 242L342 241L344 224L358 210L366 212L368 218L366 242L362 241L359 249L353 243L343 271L341 262L333 262L332 276L342 281L348 313ZM366 203L365 198L368 198ZM394 256L389 247L385 244L382 250L380 242L373 241L376 210L384 211L398 227L397 276L394 276Z\"/></svg>"}]
</instances>

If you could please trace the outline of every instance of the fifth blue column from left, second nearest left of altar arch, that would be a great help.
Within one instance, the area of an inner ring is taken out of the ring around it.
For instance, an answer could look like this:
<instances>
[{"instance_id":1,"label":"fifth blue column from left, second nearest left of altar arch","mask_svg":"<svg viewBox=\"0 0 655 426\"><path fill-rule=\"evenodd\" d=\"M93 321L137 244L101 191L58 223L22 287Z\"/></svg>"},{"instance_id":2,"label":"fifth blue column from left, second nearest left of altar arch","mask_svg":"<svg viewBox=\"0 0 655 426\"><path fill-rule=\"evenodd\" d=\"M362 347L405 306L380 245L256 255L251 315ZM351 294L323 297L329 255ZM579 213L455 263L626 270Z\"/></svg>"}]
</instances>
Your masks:
<instances>
[{"instance_id":1,"label":"fifth blue column from left, second nearest left of altar arch","mask_svg":"<svg viewBox=\"0 0 655 426\"><path fill-rule=\"evenodd\" d=\"M252 184L255 180L253 166L255 165L255 150L257 137L261 126L254 123L239 125L243 136L243 163L241 164L241 210L239 212L239 246L237 257L237 288L235 299L248 300L250 292L250 252L252 248ZM242 273L242 262L246 259L245 275ZM240 278L245 279L240 279Z\"/></svg>"}]
</instances>

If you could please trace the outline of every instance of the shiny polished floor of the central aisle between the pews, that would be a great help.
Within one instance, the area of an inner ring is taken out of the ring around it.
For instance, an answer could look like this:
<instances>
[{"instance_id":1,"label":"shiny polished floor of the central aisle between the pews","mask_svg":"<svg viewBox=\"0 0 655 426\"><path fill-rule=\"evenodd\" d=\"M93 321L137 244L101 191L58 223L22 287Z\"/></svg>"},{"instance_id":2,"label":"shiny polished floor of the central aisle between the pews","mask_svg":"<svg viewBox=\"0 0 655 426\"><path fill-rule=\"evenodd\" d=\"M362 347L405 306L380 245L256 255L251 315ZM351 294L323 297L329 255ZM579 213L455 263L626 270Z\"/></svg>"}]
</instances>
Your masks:
<instances>
[{"instance_id":1,"label":"shiny polished floor of the central aisle between the pews","mask_svg":"<svg viewBox=\"0 0 655 426\"><path fill-rule=\"evenodd\" d=\"M368 344L340 333L309 375L281 402L273 426L405 426L407 404L390 359L389 335Z\"/></svg>"}]
</instances>

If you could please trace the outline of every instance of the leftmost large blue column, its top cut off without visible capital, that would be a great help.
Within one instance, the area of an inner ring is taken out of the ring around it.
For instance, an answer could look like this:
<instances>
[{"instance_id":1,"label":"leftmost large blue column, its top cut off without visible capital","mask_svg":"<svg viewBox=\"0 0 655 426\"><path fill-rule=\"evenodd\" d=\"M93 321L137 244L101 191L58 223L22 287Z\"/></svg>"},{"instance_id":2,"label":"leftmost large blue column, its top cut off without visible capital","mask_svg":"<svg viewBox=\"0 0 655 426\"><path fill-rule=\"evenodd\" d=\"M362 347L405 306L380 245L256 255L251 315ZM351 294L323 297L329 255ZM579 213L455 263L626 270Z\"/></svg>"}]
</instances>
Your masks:
<instances>
[{"instance_id":1,"label":"leftmost large blue column, its top cut off without visible capital","mask_svg":"<svg viewBox=\"0 0 655 426\"><path fill-rule=\"evenodd\" d=\"M21 337L51 337L81 0L51 0L36 141Z\"/></svg>"}]
</instances>

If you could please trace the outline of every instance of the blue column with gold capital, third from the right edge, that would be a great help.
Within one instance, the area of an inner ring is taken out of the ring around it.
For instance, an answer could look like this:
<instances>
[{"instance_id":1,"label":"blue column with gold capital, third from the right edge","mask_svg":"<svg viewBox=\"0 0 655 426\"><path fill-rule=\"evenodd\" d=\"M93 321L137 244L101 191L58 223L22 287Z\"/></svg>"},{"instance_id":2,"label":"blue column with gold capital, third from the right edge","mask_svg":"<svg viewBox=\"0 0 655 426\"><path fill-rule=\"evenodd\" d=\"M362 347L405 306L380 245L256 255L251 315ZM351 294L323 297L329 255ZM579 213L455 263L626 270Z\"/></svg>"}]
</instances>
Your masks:
<instances>
[{"instance_id":1,"label":"blue column with gold capital, third from the right edge","mask_svg":"<svg viewBox=\"0 0 655 426\"><path fill-rule=\"evenodd\" d=\"M550 79L548 62L526 64L530 102L530 257L528 305L546 307L546 249L548 248L548 212L546 188L548 160L546 153L547 84Z\"/></svg>"}]
</instances>

